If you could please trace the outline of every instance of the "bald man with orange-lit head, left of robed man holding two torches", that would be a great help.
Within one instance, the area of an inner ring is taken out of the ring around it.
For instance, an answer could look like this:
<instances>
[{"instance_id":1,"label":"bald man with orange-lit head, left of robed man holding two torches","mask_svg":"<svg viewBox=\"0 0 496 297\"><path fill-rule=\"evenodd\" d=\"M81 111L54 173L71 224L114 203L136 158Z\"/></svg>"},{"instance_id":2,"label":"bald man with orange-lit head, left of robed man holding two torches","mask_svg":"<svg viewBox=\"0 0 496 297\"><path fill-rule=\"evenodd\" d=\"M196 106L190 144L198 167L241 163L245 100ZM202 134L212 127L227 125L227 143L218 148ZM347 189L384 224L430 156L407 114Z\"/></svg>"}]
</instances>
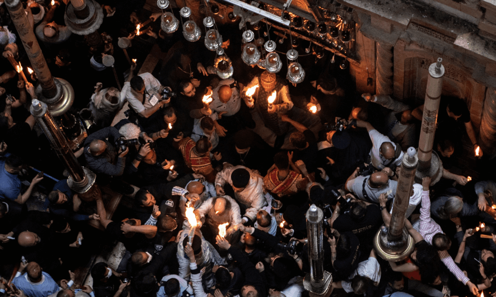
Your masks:
<instances>
[{"instance_id":1,"label":"bald man with orange-lit head, left of robed man holding two torches","mask_svg":"<svg viewBox=\"0 0 496 297\"><path fill-rule=\"evenodd\" d=\"M240 86L234 78L223 79L212 90L210 108L214 111L217 122L227 131L238 131L245 127L255 128L248 106L242 104Z\"/></svg>"}]
</instances>

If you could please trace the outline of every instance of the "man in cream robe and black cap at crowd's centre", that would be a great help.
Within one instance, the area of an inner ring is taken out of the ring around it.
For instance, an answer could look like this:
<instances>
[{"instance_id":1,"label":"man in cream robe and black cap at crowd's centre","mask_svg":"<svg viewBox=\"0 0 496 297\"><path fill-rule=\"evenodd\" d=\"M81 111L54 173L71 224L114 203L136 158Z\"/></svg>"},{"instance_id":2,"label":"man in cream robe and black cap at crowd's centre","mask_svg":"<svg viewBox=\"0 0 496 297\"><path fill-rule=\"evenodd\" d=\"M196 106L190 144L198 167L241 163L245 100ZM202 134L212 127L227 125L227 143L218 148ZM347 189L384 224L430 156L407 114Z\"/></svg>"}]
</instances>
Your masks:
<instances>
[{"instance_id":1,"label":"man in cream robe and black cap at crowd's centre","mask_svg":"<svg viewBox=\"0 0 496 297\"><path fill-rule=\"evenodd\" d=\"M225 195L224 185L229 184L233 190L236 200L243 209L243 223L254 222L256 213L267 205L263 194L263 179L245 166L233 166L224 164L224 170L217 173L215 178L215 190L217 195Z\"/></svg>"}]
</instances>

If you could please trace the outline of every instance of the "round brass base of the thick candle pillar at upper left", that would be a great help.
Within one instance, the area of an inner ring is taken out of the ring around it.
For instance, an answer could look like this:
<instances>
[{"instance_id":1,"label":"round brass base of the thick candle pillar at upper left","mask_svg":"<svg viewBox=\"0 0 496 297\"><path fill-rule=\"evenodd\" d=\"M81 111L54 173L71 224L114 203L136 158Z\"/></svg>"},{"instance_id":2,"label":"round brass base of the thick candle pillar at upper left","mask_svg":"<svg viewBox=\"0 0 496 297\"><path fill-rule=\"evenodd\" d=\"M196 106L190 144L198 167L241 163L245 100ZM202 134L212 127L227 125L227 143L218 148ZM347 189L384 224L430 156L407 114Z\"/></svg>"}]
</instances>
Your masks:
<instances>
[{"instance_id":1,"label":"round brass base of the thick candle pillar at upper left","mask_svg":"<svg viewBox=\"0 0 496 297\"><path fill-rule=\"evenodd\" d=\"M61 116L74 103L74 89L68 81L62 78L54 77L54 81L57 86L57 94L53 98L43 96L43 90L39 84L36 86L35 93L40 101L47 103L48 110L53 116Z\"/></svg>"}]
</instances>

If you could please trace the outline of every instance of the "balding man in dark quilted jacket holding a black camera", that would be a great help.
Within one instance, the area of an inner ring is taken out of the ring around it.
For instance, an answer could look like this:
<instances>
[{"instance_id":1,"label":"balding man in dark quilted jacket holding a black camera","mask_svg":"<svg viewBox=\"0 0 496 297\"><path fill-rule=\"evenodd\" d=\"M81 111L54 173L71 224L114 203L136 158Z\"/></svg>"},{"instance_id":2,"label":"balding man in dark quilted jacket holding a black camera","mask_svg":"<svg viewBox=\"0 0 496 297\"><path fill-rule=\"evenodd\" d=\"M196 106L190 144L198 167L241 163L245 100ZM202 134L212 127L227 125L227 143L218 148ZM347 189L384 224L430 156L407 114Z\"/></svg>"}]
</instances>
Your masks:
<instances>
[{"instance_id":1,"label":"balding man in dark quilted jacket holding a black camera","mask_svg":"<svg viewBox=\"0 0 496 297\"><path fill-rule=\"evenodd\" d=\"M106 127L86 138L84 156L91 170L110 176L120 176L124 173L125 155L129 148L119 148L119 151L116 151L114 143L120 137L121 134L116 128Z\"/></svg>"}]
</instances>

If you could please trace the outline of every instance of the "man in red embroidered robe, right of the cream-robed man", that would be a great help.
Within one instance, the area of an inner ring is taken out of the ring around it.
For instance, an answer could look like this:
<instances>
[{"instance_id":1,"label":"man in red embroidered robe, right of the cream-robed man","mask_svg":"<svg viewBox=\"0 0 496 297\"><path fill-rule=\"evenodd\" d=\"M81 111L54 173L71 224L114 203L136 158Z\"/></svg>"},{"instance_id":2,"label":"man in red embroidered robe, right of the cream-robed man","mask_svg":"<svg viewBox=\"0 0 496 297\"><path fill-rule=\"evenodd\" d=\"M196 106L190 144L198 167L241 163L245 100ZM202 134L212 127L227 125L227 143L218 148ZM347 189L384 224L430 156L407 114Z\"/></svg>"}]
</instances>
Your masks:
<instances>
[{"instance_id":1,"label":"man in red embroidered robe, right of the cream-robed man","mask_svg":"<svg viewBox=\"0 0 496 297\"><path fill-rule=\"evenodd\" d=\"M291 158L290 158L291 156ZM312 176L309 176L305 163L302 168L292 161L293 153L278 152L274 156L274 165L263 178L265 189L278 197L291 196L304 191ZM290 168L291 166L291 168ZM302 172L302 173L300 173Z\"/></svg>"}]
</instances>

